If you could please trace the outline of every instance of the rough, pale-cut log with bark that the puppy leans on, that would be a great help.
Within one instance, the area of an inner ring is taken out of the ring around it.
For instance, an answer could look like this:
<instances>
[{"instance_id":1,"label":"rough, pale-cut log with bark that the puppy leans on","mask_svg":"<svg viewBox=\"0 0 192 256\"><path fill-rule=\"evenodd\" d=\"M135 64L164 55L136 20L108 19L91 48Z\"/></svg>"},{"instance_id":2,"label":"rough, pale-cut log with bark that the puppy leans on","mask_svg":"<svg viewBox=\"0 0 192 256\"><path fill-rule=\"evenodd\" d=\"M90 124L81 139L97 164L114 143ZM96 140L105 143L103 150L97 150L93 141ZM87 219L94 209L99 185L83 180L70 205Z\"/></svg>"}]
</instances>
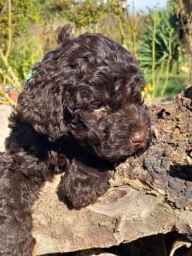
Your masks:
<instances>
[{"instance_id":1,"label":"rough, pale-cut log with bark that the puppy leans on","mask_svg":"<svg viewBox=\"0 0 192 256\"><path fill-rule=\"evenodd\" d=\"M172 231L190 244L192 87L175 101L149 110L154 131L151 147L116 168L108 193L95 205L68 210L55 193L60 177L44 185L32 214L38 255L111 247ZM176 250L172 246L160 255L179 255Z\"/></svg>"}]
</instances>

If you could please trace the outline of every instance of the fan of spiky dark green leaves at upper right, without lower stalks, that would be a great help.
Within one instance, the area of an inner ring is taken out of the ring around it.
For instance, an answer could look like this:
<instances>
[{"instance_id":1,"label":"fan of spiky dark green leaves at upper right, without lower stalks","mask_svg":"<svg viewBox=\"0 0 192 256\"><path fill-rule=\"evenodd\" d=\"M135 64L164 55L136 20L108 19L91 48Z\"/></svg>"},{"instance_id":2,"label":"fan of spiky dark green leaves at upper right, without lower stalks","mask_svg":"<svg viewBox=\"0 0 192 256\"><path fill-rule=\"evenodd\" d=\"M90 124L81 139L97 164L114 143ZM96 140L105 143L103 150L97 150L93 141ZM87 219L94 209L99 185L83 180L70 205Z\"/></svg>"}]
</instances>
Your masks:
<instances>
[{"instance_id":1,"label":"fan of spiky dark green leaves at upper right, without lower stalks","mask_svg":"<svg viewBox=\"0 0 192 256\"><path fill-rule=\"evenodd\" d=\"M164 10L151 12L145 20L142 30L137 49L142 67L152 69L153 50L155 51L155 68L161 67L162 63L166 65L170 55L172 55L170 62L170 67L172 67L173 63L178 60L180 51L180 42L172 12Z\"/></svg>"}]
</instances>

